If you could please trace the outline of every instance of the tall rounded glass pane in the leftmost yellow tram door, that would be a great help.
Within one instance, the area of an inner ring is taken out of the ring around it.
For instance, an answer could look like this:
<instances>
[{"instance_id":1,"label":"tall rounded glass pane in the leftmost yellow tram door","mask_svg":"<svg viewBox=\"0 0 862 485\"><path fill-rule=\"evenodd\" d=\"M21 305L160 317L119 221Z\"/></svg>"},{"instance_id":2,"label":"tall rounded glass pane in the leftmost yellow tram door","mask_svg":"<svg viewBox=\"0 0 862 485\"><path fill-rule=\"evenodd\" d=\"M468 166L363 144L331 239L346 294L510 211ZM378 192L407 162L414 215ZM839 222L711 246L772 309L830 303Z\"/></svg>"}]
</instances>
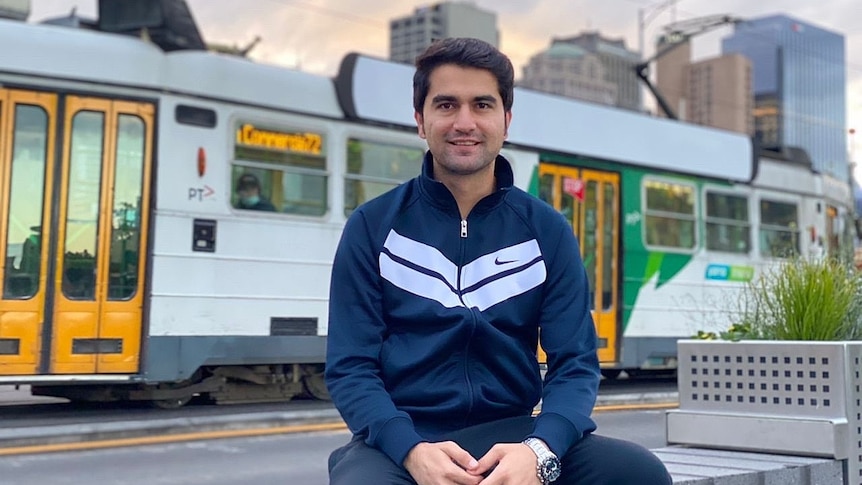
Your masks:
<instances>
[{"instance_id":1,"label":"tall rounded glass pane in the leftmost yellow tram door","mask_svg":"<svg viewBox=\"0 0 862 485\"><path fill-rule=\"evenodd\" d=\"M11 186L6 227L3 298L32 298L42 264L42 208L48 115L41 107L15 107Z\"/></svg>"}]
</instances>

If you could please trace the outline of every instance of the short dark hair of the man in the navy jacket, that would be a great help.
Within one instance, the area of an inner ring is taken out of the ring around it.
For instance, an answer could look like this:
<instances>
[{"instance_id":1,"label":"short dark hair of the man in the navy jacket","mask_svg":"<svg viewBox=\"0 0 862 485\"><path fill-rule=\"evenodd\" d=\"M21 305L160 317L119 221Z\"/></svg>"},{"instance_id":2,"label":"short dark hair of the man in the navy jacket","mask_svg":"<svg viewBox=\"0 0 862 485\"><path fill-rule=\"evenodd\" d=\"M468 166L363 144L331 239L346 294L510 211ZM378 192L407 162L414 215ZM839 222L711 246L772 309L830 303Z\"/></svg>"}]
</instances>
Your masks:
<instances>
[{"instance_id":1,"label":"short dark hair of the man in the navy jacket","mask_svg":"<svg viewBox=\"0 0 862 485\"><path fill-rule=\"evenodd\" d=\"M416 57L413 74L413 108L421 113L431 85L431 73L444 64L485 69L497 78L500 98L505 111L512 110L515 88L515 68L505 54L491 44L471 38L441 39Z\"/></svg>"}]
</instances>

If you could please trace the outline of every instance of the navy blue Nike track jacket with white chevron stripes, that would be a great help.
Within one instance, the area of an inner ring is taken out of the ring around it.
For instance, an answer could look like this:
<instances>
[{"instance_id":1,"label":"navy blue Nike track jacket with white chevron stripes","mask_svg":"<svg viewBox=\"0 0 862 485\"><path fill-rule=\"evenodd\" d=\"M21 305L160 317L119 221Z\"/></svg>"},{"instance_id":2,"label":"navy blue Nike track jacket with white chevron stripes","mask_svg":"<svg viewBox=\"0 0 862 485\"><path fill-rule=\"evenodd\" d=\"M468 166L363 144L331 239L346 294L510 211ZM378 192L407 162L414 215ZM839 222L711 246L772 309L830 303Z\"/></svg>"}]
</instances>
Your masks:
<instances>
[{"instance_id":1,"label":"navy blue Nike track jacket with white chevron stripes","mask_svg":"<svg viewBox=\"0 0 862 485\"><path fill-rule=\"evenodd\" d=\"M595 429L599 383L572 228L513 186L502 156L498 190L462 221L431 160L426 153L420 176L359 207L344 228L325 374L335 406L401 465L419 442L530 415L542 398L531 436L562 456Z\"/></svg>"}]
</instances>

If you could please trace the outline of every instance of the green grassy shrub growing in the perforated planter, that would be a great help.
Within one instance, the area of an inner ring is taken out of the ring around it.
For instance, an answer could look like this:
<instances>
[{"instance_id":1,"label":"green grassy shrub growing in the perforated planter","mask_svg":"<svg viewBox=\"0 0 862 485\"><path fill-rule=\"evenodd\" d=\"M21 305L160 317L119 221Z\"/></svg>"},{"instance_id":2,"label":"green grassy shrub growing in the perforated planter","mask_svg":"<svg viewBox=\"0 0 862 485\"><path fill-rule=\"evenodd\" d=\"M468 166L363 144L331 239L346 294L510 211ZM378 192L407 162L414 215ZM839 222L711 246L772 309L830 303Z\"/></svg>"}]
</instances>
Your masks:
<instances>
[{"instance_id":1,"label":"green grassy shrub growing in the perforated planter","mask_svg":"<svg viewBox=\"0 0 862 485\"><path fill-rule=\"evenodd\" d=\"M862 276L837 258L796 257L748 284L726 340L858 340Z\"/></svg>"}]
</instances>

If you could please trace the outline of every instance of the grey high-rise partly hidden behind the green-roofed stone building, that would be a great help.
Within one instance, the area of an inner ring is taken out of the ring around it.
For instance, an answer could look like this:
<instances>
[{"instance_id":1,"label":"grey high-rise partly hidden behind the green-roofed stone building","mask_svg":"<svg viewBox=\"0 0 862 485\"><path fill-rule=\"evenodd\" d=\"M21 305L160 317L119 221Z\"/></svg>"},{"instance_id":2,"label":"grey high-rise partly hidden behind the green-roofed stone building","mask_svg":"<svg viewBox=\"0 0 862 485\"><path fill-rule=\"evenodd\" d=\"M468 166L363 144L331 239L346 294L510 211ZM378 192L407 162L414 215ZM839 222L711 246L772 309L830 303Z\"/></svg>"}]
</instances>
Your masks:
<instances>
[{"instance_id":1,"label":"grey high-rise partly hidden behind the green-roofed stone building","mask_svg":"<svg viewBox=\"0 0 862 485\"><path fill-rule=\"evenodd\" d=\"M616 86L616 106L633 111L642 109L641 84L635 72L640 54L628 50L625 40L603 37L599 32L583 32L575 37L555 39L554 43L576 45L596 56L604 67L604 80Z\"/></svg>"}]
</instances>

